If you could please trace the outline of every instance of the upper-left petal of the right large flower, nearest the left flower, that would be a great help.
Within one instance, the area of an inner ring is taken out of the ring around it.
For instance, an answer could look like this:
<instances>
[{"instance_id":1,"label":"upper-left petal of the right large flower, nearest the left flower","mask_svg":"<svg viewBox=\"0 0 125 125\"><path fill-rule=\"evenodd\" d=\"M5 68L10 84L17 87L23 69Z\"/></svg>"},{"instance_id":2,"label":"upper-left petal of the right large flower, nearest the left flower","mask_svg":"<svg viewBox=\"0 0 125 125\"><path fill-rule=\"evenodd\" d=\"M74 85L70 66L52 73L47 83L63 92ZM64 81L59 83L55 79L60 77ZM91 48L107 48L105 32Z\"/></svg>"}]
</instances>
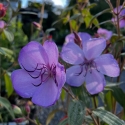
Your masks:
<instances>
[{"instance_id":1,"label":"upper-left petal of the right large flower, nearest the left flower","mask_svg":"<svg viewBox=\"0 0 125 125\"><path fill-rule=\"evenodd\" d=\"M65 62L70 64L81 64L84 61L82 49L71 42L63 46L60 56Z\"/></svg>"}]
</instances>

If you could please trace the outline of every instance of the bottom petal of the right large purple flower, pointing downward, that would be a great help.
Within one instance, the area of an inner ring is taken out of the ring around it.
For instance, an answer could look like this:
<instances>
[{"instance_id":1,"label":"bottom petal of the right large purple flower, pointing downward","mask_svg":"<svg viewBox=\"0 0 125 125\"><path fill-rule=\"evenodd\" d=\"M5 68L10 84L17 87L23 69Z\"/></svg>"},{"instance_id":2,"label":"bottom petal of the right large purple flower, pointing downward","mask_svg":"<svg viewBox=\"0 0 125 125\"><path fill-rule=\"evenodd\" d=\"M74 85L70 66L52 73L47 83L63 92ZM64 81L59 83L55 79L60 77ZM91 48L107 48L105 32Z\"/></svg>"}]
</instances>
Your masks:
<instances>
[{"instance_id":1,"label":"bottom petal of the right large purple flower, pointing downward","mask_svg":"<svg viewBox=\"0 0 125 125\"><path fill-rule=\"evenodd\" d=\"M86 88L92 95L102 92L106 85L104 76L95 69L87 72L85 81Z\"/></svg>"}]
</instances>

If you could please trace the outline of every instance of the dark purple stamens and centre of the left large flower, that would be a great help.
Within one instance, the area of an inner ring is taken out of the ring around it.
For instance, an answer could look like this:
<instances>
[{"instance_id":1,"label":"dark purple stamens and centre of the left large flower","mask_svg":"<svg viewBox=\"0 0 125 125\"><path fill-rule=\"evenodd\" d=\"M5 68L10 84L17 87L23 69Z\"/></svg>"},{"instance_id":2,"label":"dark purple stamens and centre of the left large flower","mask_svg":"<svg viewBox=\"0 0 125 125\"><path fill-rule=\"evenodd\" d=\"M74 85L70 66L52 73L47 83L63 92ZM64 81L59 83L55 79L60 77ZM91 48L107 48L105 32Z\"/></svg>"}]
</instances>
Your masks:
<instances>
[{"instance_id":1,"label":"dark purple stamens and centre of the left large flower","mask_svg":"<svg viewBox=\"0 0 125 125\"><path fill-rule=\"evenodd\" d=\"M23 65L22 65L23 66ZM57 80L56 80L56 65L53 63L51 66L45 65L45 64L37 64L37 66L34 68L34 70L27 70L24 66L23 68L25 71L28 72L28 74L34 78L40 78L41 82L38 85L33 84L34 86L38 87L43 82L46 82L48 79L52 78L55 82L55 84L58 86ZM37 76L33 76L33 72L37 73Z\"/></svg>"}]
</instances>

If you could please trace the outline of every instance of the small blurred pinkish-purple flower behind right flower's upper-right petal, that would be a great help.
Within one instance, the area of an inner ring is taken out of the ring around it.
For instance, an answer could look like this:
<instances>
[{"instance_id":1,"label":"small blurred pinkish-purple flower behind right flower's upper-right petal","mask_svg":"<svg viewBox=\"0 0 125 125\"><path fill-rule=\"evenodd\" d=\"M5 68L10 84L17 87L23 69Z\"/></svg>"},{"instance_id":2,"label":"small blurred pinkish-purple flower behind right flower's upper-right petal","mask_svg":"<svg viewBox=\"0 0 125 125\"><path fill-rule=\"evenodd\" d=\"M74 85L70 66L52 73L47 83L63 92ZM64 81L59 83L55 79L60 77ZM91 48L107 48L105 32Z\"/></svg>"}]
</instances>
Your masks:
<instances>
[{"instance_id":1,"label":"small blurred pinkish-purple flower behind right flower's upper-right petal","mask_svg":"<svg viewBox=\"0 0 125 125\"><path fill-rule=\"evenodd\" d=\"M97 30L98 36L99 37L103 37L106 40L109 40L112 37L112 31L108 31L106 29L103 28L99 28Z\"/></svg>"}]
</instances>

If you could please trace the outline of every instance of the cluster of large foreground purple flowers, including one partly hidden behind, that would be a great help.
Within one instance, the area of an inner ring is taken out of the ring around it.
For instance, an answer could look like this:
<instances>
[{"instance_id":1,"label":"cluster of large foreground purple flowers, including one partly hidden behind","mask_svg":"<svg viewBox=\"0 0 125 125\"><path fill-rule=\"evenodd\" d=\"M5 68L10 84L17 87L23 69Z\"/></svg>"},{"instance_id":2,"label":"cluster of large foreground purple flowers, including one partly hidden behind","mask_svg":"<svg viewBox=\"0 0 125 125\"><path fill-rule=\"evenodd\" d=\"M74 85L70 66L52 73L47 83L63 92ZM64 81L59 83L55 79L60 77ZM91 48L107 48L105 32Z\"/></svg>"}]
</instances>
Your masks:
<instances>
[{"instance_id":1,"label":"cluster of large foreground purple flowers, including one partly hidden behind","mask_svg":"<svg viewBox=\"0 0 125 125\"><path fill-rule=\"evenodd\" d=\"M43 46L37 42L28 43L19 54L22 69L15 70L12 83L16 92L40 106L53 105L59 99L66 81L71 86L81 86L84 82L90 94L103 91L104 75L117 77L119 66L111 54L103 54L106 39L91 38L87 33L72 33L65 39L61 58L72 64L64 71L58 62L58 49L53 41Z\"/></svg>"}]
</instances>

